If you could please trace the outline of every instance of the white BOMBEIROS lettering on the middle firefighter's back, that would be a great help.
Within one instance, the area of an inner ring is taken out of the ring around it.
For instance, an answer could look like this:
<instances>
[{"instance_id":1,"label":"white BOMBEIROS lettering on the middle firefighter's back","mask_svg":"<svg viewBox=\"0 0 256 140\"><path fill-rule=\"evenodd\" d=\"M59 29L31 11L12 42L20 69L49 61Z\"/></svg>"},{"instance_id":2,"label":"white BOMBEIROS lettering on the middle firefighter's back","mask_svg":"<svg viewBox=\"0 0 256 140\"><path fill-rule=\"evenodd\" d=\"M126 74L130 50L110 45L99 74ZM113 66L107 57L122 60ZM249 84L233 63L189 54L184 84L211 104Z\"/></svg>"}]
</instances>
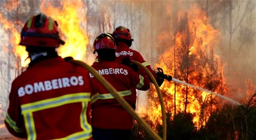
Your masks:
<instances>
[{"instance_id":1,"label":"white BOMBEIROS lettering on the middle firefighter's back","mask_svg":"<svg viewBox=\"0 0 256 140\"><path fill-rule=\"evenodd\" d=\"M101 69L98 70L98 73L100 75L109 75L109 74L124 74L127 75L128 74L128 70L123 69L123 68L106 68L106 69ZM90 78L94 77L93 74L90 74Z\"/></svg>"}]
</instances>

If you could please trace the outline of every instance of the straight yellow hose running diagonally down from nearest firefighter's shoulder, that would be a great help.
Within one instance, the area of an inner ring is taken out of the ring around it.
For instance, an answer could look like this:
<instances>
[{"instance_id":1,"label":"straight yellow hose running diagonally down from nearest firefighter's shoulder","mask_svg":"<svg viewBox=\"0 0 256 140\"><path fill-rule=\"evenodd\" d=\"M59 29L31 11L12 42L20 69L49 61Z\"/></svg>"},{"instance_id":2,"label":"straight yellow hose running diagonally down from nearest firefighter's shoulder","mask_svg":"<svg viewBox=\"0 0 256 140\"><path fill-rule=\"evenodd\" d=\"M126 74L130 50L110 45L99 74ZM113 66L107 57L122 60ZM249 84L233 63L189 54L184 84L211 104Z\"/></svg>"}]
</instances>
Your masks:
<instances>
[{"instance_id":1,"label":"straight yellow hose running diagonally down from nearest firefighter's shoulder","mask_svg":"<svg viewBox=\"0 0 256 140\"><path fill-rule=\"evenodd\" d=\"M79 60L70 60L70 62L82 66L91 74L93 74L95 78L99 80L102 83L102 85L114 96L114 98L116 98L116 100L124 107L124 109L142 125L142 127L146 130L148 134L150 134L150 136L152 136L152 138L154 138L155 140L162 140L162 138L158 136L158 134L156 134L156 132L154 132L154 130L152 130L152 128L138 116L138 114L133 110L130 104L128 104L128 102L126 102L126 100L124 100L124 98L122 98L118 94L116 89L103 76L98 74L98 72L94 68Z\"/></svg>"}]
</instances>

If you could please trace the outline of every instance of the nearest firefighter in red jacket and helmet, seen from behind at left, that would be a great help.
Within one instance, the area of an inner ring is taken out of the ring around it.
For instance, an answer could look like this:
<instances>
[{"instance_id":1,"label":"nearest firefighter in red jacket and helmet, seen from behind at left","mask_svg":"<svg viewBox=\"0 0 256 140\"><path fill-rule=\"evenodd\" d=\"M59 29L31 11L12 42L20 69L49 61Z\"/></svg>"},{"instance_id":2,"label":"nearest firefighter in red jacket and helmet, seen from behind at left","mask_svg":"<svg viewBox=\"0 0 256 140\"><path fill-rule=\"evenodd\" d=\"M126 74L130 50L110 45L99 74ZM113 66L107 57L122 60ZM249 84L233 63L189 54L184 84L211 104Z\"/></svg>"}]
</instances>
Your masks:
<instances>
[{"instance_id":1,"label":"nearest firefighter in red jacket and helmet, seen from behind at left","mask_svg":"<svg viewBox=\"0 0 256 140\"><path fill-rule=\"evenodd\" d=\"M22 28L20 45L31 62L12 82L5 124L14 136L92 139L89 73L58 56L55 49L64 43L57 22L44 14L32 16Z\"/></svg>"}]
</instances>

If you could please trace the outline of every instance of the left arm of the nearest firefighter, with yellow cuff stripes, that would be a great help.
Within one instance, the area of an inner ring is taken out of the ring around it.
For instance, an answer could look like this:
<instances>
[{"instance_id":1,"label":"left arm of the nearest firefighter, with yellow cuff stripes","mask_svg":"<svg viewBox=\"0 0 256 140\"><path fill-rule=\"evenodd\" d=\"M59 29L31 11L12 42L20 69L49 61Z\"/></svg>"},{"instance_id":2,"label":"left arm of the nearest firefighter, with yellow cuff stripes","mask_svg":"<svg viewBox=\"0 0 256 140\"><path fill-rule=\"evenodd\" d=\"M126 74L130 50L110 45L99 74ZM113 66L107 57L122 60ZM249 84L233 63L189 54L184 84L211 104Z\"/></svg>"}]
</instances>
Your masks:
<instances>
[{"instance_id":1,"label":"left arm of the nearest firefighter, with yellow cuff stripes","mask_svg":"<svg viewBox=\"0 0 256 140\"><path fill-rule=\"evenodd\" d=\"M6 112L4 123L8 131L19 138L26 137L26 130L24 129L24 119L21 115L20 102L18 97L18 88L12 84L12 89L9 95L9 108Z\"/></svg>"}]
</instances>

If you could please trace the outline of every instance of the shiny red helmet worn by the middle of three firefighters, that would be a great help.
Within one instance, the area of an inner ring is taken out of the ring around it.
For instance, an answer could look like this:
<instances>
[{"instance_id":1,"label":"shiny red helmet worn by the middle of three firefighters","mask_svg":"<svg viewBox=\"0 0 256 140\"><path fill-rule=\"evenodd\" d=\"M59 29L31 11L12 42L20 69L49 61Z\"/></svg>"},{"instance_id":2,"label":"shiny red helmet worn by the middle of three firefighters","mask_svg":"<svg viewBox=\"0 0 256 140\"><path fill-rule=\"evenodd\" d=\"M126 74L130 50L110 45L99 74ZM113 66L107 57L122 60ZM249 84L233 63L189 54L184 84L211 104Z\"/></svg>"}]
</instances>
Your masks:
<instances>
[{"instance_id":1,"label":"shiny red helmet worn by the middle of three firefighters","mask_svg":"<svg viewBox=\"0 0 256 140\"><path fill-rule=\"evenodd\" d=\"M99 49L116 49L116 42L111 34L100 34L93 43L94 54Z\"/></svg>"}]
</instances>

